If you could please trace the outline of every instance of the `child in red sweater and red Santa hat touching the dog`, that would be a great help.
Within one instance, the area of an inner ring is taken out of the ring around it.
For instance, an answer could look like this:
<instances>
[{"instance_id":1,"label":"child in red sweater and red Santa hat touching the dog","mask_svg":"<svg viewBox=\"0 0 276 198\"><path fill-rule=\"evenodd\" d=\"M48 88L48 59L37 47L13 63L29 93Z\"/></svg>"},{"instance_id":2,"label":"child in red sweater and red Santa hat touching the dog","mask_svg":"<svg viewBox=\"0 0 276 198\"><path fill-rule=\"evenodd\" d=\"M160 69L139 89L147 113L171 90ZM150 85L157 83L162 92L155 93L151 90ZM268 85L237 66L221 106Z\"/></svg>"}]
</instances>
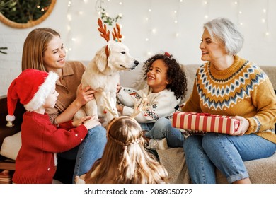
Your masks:
<instances>
[{"instance_id":1,"label":"child in red sweater and red Santa hat touching the dog","mask_svg":"<svg viewBox=\"0 0 276 198\"><path fill-rule=\"evenodd\" d=\"M45 113L54 107L59 95L55 83L59 76L54 72L24 70L8 88L7 121L15 120L13 112L20 100L27 110L21 126L22 146L16 158L14 183L52 183L57 166L56 153L67 151L84 140L88 129L100 125L93 117L83 117L53 125Z\"/></svg>"}]
</instances>

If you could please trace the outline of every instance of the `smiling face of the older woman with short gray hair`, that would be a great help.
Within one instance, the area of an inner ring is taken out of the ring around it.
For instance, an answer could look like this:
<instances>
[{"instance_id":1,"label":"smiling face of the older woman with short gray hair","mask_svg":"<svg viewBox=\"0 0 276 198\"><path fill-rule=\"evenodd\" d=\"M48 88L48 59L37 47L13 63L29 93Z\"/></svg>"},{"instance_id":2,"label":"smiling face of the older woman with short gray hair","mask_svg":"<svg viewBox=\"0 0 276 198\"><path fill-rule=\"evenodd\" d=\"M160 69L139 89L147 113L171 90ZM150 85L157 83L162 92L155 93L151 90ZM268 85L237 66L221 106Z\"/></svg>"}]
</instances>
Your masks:
<instances>
[{"instance_id":1,"label":"smiling face of the older woman with short gray hair","mask_svg":"<svg viewBox=\"0 0 276 198\"><path fill-rule=\"evenodd\" d=\"M202 34L200 50L202 52L202 61L216 62L218 59L226 56L224 45L217 42L217 40L212 39L211 35L206 29Z\"/></svg>"}]
</instances>

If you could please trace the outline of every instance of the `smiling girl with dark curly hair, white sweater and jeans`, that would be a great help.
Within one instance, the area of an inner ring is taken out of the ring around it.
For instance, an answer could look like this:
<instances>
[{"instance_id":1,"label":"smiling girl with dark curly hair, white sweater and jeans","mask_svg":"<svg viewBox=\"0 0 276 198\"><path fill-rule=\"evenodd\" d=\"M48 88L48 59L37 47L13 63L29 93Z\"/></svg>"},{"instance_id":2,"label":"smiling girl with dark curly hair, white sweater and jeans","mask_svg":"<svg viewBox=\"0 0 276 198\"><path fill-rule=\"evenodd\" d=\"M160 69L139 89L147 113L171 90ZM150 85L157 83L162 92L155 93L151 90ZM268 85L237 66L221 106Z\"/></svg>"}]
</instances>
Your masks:
<instances>
[{"instance_id":1,"label":"smiling girl with dark curly hair, white sweater and jeans","mask_svg":"<svg viewBox=\"0 0 276 198\"><path fill-rule=\"evenodd\" d=\"M143 71L146 88L133 93L127 93L126 89L120 88L117 98L122 105L117 105L118 112L131 115L133 107L146 96L148 107L135 117L141 124L145 139L161 139L167 141L170 147L182 147L184 136L172 127L171 118L173 112L180 110L180 100L187 91L185 73L168 52L147 59ZM164 149L162 142L158 145L159 149Z\"/></svg>"}]
</instances>

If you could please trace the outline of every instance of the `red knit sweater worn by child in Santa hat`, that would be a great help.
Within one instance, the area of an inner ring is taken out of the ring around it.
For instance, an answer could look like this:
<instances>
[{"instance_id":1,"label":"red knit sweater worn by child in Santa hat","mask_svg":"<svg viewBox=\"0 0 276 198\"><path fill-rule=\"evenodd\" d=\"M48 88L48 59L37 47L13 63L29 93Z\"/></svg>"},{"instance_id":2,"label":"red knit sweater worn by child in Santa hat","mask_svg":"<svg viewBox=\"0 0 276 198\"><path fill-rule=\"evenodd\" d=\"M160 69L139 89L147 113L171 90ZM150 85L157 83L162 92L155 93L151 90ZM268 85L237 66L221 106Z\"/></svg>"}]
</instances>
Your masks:
<instances>
[{"instance_id":1,"label":"red knit sweater worn by child in Santa hat","mask_svg":"<svg viewBox=\"0 0 276 198\"><path fill-rule=\"evenodd\" d=\"M70 121L57 127L50 122L47 114L25 112L21 126L22 146L16 158L13 182L52 183L56 171L54 153L68 151L81 144L86 134L84 125L73 127Z\"/></svg>"}]
</instances>

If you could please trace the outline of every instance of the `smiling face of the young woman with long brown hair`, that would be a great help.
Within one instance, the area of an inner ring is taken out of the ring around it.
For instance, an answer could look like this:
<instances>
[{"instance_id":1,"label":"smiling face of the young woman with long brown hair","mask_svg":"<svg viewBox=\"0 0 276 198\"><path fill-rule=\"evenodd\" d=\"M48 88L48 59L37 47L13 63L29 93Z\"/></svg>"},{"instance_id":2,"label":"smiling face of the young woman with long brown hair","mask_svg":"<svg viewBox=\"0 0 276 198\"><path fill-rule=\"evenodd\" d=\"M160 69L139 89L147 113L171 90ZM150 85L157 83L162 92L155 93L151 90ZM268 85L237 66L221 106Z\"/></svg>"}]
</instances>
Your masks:
<instances>
[{"instance_id":1,"label":"smiling face of the young woman with long brown hair","mask_svg":"<svg viewBox=\"0 0 276 198\"><path fill-rule=\"evenodd\" d=\"M56 71L65 65L65 48L59 36L54 36L47 45L43 62L47 71Z\"/></svg>"}]
</instances>

